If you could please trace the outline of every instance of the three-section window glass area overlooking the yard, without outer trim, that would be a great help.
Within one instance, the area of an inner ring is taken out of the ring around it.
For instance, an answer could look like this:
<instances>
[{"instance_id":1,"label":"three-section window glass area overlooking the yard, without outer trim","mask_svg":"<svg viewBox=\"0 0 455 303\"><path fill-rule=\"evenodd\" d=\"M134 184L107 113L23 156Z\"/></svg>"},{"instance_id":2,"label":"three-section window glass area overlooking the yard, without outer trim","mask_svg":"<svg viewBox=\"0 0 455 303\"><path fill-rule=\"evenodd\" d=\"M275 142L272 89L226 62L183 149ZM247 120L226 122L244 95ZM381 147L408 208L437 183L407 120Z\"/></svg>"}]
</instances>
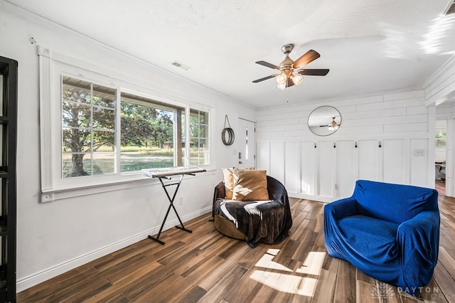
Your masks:
<instances>
[{"instance_id":1,"label":"three-section window glass area overlooking the yard, without outer trim","mask_svg":"<svg viewBox=\"0 0 455 303\"><path fill-rule=\"evenodd\" d=\"M61 134L63 179L210 164L208 111L68 76Z\"/></svg>"}]
</instances>

